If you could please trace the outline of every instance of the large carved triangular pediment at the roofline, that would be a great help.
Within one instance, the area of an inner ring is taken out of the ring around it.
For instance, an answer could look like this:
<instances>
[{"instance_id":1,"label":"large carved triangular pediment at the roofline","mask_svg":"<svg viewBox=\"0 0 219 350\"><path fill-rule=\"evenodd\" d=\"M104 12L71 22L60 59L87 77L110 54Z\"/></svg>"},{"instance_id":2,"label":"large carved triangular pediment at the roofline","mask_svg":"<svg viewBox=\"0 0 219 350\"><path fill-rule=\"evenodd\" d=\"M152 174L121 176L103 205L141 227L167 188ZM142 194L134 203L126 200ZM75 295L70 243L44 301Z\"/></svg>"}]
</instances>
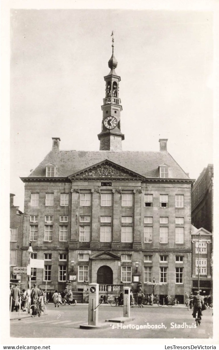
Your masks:
<instances>
[{"instance_id":1,"label":"large carved triangular pediment at the roofline","mask_svg":"<svg viewBox=\"0 0 219 350\"><path fill-rule=\"evenodd\" d=\"M104 160L94 164L91 167L83 169L75 174L68 176L69 178L99 178L99 179L142 179L143 176L124 168L109 160Z\"/></svg>"}]
</instances>

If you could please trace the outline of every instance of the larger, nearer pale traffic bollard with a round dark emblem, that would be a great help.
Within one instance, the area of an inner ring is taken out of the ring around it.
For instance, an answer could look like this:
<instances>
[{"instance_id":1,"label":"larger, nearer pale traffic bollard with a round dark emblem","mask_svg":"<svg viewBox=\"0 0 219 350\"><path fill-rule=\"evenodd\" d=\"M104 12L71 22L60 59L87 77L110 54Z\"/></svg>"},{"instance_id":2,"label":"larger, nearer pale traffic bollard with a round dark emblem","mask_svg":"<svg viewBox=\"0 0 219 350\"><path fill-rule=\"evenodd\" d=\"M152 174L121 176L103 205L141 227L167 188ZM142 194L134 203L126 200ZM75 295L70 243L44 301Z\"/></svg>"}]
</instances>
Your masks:
<instances>
[{"instance_id":1,"label":"larger, nearer pale traffic bollard with a round dark emblem","mask_svg":"<svg viewBox=\"0 0 219 350\"><path fill-rule=\"evenodd\" d=\"M89 306L88 306L88 324L97 326L98 324L98 302L99 302L99 284L89 284Z\"/></svg>"}]
</instances>

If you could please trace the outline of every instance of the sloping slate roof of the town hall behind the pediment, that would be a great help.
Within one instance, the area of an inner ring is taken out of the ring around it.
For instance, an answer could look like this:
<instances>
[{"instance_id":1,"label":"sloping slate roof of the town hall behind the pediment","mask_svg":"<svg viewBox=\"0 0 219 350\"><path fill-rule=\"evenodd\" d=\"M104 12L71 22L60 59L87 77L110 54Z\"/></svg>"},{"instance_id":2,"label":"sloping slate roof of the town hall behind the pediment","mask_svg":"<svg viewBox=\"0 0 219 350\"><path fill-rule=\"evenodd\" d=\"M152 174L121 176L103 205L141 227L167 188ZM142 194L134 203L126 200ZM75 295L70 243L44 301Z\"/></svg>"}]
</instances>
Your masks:
<instances>
[{"instance_id":1,"label":"sloping slate roof of the town hall behind the pediment","mask_svg":"<svg viewBox=\"0 0 219 350\"><path fill-rule=\"evenodd\" d=\"M159 177L159 166L168 164L169 178L189 179L172 156L166 152L137 151L62 151L52 150L28 177L46 176L45 167L53 163L57 177L67 177L104 160L110 160L144 177Z\"/></svg>"}]
</instances>

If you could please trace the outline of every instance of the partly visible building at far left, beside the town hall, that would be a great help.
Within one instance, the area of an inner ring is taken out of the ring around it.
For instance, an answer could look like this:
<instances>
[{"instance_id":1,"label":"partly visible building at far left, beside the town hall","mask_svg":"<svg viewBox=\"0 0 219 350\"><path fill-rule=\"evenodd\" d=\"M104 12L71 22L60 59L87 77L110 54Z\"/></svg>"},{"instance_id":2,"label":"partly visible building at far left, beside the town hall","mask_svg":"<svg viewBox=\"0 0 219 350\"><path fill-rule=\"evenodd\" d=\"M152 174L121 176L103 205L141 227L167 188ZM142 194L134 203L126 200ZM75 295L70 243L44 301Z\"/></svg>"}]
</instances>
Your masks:
<instances>
[{"instance_id":1,"label":"partly visible building at far left, beside the town hall","mask_svg":"<svg viewBox=\"0 0 219 350\"><path fill-rule=\"evenodd\" d=\"M13 274L13 268L22 267L22 234L23 213L14 205L14 194L10 193L10 282L18 282L21 278Z\"/></svg>"}]
</instances>

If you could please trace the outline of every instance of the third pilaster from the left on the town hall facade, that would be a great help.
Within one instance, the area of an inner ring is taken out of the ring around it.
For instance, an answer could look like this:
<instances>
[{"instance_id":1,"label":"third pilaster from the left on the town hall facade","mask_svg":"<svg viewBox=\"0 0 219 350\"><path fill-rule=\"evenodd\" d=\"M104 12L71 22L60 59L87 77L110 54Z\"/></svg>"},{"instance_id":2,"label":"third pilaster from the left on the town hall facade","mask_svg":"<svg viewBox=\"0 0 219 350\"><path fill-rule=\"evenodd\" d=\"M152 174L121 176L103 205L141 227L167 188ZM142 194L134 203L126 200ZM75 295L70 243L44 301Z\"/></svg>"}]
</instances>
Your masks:
<instances>
[{"instance_id":1,"label":"third pilaster from the left on the town hall facade","mask_svg":"<svg viewBox=\"0 0 219 350\"><path fill-rule=\"evenodd\" d=\"M121 205L120 205L120 193L121 190L112 190L113 192L113 239L112 249L119 248L120 246L120 235L121 235Z\"/></svg>"}]
</instances>

